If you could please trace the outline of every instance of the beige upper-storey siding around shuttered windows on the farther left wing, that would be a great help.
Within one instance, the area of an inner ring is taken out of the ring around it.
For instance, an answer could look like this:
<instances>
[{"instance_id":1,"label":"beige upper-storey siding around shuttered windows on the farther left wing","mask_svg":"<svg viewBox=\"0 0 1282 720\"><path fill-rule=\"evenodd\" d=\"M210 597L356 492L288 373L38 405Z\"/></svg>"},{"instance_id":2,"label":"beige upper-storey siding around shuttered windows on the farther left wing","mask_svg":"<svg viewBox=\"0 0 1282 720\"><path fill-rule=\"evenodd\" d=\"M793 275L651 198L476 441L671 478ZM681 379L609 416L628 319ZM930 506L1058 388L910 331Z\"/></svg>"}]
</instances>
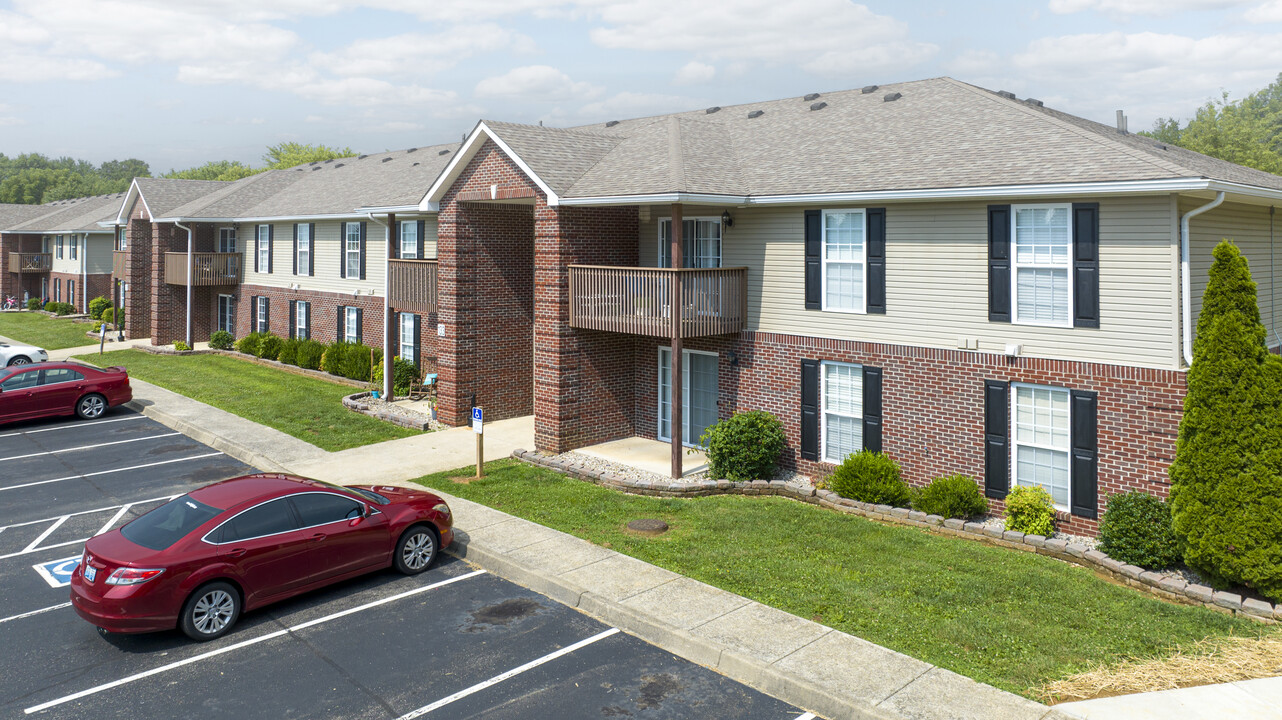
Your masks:
<instances>
[{"instance_id":1,"label":"beige upper-storey siding around shuttered windows on the farther left wing","mask_svg":"<svg viewBox=\"0 0 1282 720\"><path fill-rule=\"evenodd\" d=\"M358 222L358 220L353 220ZM258 225L260 223L241 223L237 233L241 261L245 264L245 284L268 287L294 287L318 292L338 292L351 295L383 293L385 259L387 241L383 225L365 220L365 279L338 277L338 261L342 249L342 223L317 222L315 237L312 240L314 274L294 274L294 223L273 223L272 232L272 274L254 272L254 254L258 250Z\"/></svg>"}]
</instances>

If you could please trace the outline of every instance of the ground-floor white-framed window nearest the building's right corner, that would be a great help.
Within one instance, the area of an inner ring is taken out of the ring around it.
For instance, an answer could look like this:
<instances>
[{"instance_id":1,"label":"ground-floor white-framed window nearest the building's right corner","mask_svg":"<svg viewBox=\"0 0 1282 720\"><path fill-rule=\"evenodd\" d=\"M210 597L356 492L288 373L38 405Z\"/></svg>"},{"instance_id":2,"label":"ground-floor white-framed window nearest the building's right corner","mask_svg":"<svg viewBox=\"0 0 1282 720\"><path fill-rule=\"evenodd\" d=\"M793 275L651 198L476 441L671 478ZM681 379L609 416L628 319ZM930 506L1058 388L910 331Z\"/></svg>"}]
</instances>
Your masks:
<instances>
[{"instance_id":1,"label":"ground-floor white-framed window nearest the building's right corner","mask_svg":"<svg viewBox=\"0 0 1282 720\"><path fill-rule=\"evenodd\" d=\"M1010 455L1015 486L1040 486L1069 507L1070 395L1065 388L1011 383Z\"/></svg>"}]
</instances>

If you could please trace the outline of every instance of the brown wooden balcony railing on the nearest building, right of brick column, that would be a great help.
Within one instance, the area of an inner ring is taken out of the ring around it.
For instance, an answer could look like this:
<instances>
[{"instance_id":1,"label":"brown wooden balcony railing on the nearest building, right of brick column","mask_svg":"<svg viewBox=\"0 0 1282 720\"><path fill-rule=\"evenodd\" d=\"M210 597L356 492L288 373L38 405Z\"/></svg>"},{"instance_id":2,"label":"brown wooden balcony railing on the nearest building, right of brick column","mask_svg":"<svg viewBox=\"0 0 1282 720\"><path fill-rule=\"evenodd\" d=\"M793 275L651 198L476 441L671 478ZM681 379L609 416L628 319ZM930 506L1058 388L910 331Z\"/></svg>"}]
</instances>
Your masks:
<instances>
[{"instance_id":1,"label":"brown wooden balcony railing on the nearest building, right of brick column","mask_svg":"<svg viewBox=\"0 0 1282 720\"><path fill-rule=\"evenodd\" d=\"M742 332L747 268L569 266L572 328L672 337L672 282L681 275L681 337Z\"/></svg>"}]
</instances>

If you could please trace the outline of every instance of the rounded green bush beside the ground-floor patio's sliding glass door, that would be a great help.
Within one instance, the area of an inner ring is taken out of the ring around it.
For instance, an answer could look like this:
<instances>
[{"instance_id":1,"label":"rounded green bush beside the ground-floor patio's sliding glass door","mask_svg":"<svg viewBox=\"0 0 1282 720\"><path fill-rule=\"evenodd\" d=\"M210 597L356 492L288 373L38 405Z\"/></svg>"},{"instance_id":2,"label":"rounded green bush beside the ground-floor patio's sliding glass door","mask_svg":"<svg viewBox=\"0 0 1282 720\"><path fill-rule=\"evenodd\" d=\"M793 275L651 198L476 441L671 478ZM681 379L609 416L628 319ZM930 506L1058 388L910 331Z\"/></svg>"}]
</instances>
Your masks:
<instances>
[{"instance_id":1,"label":"rounded green bush beside the ground-floor patio's sliding glass door","mask_svg":"<svg viewBox=\"0 0 1282 720\"><path fill-rule=\"evenodd\" d=\"M783 424L764 410L736 413L704 430L699 438L715 478L768 480L787 445Z\"/></svg>"}]
</instances>

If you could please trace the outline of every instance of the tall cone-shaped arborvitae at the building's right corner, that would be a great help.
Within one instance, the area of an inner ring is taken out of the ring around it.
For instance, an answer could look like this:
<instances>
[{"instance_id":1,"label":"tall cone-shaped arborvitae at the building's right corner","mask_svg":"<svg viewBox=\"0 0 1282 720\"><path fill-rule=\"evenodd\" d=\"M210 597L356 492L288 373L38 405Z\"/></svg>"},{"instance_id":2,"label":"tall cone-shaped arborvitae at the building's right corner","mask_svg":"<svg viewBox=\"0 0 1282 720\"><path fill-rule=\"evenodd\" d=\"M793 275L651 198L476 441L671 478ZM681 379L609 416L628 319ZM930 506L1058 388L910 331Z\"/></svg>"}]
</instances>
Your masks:
<instances>
[{"instance_id":1,"label":"tall cone-shaped arborvitae at the building's right corner","mask_svg":"<svg viewBox=\"0 0 1282 720\"><path fill-rule=\"evenodd\" d=\"M1246 258L1228 241L1214 258L1170 465L1173 527L1191 568L1282 600L1282 360Z\"/></svg>"}]
</instances>

